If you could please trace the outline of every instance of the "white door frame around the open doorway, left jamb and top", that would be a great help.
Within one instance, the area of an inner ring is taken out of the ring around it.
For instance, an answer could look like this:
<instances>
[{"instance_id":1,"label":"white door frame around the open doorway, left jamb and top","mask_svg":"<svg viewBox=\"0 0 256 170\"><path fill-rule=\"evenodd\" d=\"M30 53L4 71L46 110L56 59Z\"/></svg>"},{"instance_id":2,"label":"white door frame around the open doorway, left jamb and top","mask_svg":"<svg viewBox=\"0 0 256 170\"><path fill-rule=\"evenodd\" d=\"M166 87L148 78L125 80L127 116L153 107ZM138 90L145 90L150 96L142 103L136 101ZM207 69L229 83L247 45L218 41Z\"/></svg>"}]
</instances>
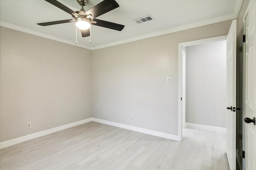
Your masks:
<instances>
[{"instance_id":1,"label":"white door frame around the open doorway, left jamb and top","mask_svg":"<svg viewBox=\"0 0 256 170\"><path fill-rule=\"evenodd\" d=\"M223 35L219 37L178 43L178 141L182 141L182 127L186 127L186 103L182 103L182 100L186 101L186 63L182 60L182 49L183 47L211 43L214 41L222 41L226 39L227 35Z\"/></svg>"}]
</instances>

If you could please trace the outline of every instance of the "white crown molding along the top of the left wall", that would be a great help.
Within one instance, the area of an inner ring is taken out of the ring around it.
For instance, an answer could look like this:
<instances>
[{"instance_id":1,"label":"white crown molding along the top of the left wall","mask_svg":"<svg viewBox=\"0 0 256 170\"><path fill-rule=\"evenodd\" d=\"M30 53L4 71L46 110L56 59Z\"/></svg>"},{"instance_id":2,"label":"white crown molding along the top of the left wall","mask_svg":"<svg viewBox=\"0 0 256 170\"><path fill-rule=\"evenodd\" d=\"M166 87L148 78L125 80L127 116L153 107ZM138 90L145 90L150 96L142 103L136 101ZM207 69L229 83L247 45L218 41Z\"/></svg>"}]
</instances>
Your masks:
<instances>
[{"instance_id":1,"label":"white crown molding along the top of the left wall","mask_svg":"<svg viewBox=\"0 0 256 170\"><path fill-rule=\"evenodd\" d=\"M37 32L37 31L33 31L32 29L27 29L27 28L24 28L24 27L19 27L17 25L13 25L13 24L6 23L6 22L3 22L3 21L0 21L0 26L6 27L6 28L10 28L10 29L14 29L14 30L17 30L17 31L21 31L21 32L24 32L24 33L29 33L29 34L32 34L32 35L37 35L39 37L43 37L43 38L47 38L47 39L52 39L54 41L59 41L59 42L70 44L70 45L74 45L74 46L77 46L77 47L82 47L84 49L90 49L91 50L91 47L88 47L88 46L76 44L76 43L74 43L72 41L67 41L65 39L61 39L61 38L54 37L52 35L48 35L48 34L44 34L44 33L40 33L40 32Z\"/></svg>"}]
</instances>

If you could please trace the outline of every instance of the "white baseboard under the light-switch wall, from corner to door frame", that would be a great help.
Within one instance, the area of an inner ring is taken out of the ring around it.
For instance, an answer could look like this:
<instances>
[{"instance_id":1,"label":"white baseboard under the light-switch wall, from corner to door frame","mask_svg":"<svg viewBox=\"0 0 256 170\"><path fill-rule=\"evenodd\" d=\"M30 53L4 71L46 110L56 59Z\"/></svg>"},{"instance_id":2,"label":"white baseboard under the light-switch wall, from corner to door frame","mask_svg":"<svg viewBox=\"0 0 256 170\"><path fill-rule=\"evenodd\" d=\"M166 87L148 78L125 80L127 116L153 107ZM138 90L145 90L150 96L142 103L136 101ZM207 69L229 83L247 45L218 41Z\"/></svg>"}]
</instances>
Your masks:
<instances>
[{"instance_id":1,"label":"white baseboard under the light-switch wall, from corner to door frame","mask_svg":"<svg viewBox=\"0 0 256 170\"><path fill-rule=\"evenodd\" d=\"M153 131L153 130L149 130L149 129L144 129L144 128L135 127L135 126L131 126L131 125L125 125L122 123L116 123L116 122L112 122L112 121L106 121L106 120L97 119L97 118L92 118L92 121L96 121L98 123L103 123L106 125L112 125L115 127L120 127L123 129L132 130L132 131L136 131L136 132L140 132L140 133L146 133L148 135L153 135L153 136L162 137L162 138L166 138L166 139L172 139L174 141L179 141L177 135L171 135L168 133Z\"/></svg>"}]
</instances>

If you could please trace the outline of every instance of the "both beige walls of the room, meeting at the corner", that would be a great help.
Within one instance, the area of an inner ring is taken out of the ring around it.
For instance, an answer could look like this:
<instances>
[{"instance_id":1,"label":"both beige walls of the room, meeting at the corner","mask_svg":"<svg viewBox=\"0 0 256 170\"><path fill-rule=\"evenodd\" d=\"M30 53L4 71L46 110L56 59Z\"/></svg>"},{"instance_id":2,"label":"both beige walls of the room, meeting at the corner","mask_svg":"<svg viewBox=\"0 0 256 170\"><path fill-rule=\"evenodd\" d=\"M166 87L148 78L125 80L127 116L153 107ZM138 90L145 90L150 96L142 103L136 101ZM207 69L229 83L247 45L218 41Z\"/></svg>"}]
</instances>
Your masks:
<instances>
[{"instance_id":1,"label":"both beige walls of the room, meeting at the corner","mask_svg":"<svg viewBox=\"0 0 256 170\"><path fill-rule=\"evenodd\" d=\"M1 27L0 141L89 117L177 135L178 43L226 35L230 24L94 51Z\"/></svg>"}]
</instances>

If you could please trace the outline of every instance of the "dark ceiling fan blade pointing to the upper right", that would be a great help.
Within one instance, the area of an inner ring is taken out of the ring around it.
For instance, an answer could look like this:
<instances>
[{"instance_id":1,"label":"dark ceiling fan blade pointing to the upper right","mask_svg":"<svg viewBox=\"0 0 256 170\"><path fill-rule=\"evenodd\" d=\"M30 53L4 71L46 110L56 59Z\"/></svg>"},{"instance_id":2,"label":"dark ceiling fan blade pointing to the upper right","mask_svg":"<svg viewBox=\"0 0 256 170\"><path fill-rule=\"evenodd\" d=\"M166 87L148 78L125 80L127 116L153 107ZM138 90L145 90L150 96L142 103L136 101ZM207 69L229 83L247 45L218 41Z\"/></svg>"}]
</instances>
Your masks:
<instances>
[{"instance_id":1,"label":"dark ceiling fan blade pointing to the upper right","mask_svg":"<svg viewBox=\"0 0 256 170\"><path fill-rule=\"evenodd\" d=\"M119 5L115 0L103 0L96 6L92 7L90 10L86 11L85 14L91 14L91 18L94 19L102 14L105 14L111 10L118 8Z\"/></svg>"}]
</instances>

